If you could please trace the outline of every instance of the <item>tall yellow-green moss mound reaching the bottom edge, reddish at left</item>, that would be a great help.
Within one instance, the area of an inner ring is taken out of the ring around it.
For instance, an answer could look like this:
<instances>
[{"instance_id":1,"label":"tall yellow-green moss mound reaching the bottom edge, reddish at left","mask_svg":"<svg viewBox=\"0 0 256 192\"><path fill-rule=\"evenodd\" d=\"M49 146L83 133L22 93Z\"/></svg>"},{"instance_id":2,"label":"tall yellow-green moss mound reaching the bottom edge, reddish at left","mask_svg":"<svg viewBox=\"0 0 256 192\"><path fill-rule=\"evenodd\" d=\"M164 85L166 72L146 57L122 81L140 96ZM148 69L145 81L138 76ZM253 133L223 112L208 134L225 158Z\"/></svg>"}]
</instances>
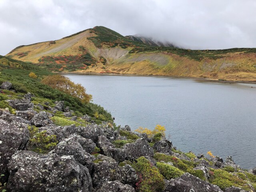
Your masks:
<instances>
[{"instance_id":1,"label":"tall yellow-green moss mound reaching the bottom edge, reddish at left","mask_svg":"<svg viewBox=\"0 0 256 192\"><path fill-rule=\"evenodd\" d=\"M136 184L139 192L160 192L164 190L164 177L158 168L152 166L145 157L140 157L132 164L140 180Z\"/></svg>"}]
</instances>

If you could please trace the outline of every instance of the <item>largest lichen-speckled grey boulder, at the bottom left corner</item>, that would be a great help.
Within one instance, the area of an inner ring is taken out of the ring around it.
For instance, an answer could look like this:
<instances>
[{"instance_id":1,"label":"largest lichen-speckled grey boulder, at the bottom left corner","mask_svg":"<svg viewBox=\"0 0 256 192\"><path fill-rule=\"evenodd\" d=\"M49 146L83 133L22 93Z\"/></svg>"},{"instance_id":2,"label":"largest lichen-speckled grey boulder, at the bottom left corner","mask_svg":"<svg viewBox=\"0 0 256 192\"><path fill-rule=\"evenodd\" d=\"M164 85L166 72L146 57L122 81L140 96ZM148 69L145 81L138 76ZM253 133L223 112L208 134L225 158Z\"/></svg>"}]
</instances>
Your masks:
<instances>
[{"instance_id":1,"label":"largest lichen-speckled grey boulder, at the bottom left corner","mask_svg":"<svg viewBox=\"0 0 256 192\"><path fill-rule=\"evenodd\" d=\"M91 192L88 169L72 156L16 152L8 164L10 192Z\"/></svg>"}]
</instances>

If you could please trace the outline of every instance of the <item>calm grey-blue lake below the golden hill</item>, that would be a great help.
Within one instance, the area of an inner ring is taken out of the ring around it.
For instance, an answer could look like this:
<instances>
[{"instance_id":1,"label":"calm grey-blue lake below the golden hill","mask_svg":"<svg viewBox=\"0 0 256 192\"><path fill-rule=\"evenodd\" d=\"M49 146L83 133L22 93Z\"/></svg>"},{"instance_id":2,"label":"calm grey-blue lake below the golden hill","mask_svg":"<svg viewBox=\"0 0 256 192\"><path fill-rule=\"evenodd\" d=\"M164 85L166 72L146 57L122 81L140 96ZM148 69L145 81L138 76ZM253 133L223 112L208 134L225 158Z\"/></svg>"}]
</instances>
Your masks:
<instances>
[{"instance_id":1,"label":"calm grey-blue lake below the golden hill","mask_svg":"<svg viewBox=\"0 0 256 192\"><path fill-rule=\"evenodd\" d=\"M166 127L183 152L211 150L242 168L256 166L256 84L158 76L66 74L92 94L93 102L132 130Z\"/></svg>"}]
</instances>

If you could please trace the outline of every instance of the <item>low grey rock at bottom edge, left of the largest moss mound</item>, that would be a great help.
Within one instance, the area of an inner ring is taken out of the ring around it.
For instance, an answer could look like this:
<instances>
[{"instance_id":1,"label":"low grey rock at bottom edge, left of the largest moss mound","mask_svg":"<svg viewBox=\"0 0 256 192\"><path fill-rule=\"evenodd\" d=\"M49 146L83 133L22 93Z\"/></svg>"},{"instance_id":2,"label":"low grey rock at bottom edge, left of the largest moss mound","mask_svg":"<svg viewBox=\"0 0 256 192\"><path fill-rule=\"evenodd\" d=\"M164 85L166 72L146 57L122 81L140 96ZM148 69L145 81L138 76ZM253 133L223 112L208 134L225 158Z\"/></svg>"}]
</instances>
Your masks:
<instances>
[{"instance_id":1,"label":"low grey rock at bottom edge, left of the largest moss mound","mask_svg":"<svg viewBox=\"0 0 256 192\"><path fill-rule=\"evenodd\" d=\"M120 181L105 182L103 186L96 190L97 192L134 192L134 188L130 185L124 185Z\"/></svg>"}]
</instances>

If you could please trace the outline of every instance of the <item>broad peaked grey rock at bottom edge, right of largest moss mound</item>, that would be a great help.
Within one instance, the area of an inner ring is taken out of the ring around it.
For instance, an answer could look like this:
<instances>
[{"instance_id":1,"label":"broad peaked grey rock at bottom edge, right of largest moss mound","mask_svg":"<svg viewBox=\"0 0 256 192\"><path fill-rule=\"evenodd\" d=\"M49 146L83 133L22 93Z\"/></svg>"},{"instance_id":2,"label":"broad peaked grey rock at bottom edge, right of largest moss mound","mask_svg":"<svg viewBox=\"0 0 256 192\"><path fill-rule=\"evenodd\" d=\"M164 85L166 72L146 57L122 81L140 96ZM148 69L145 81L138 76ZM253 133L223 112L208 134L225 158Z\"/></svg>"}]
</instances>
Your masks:
<instances>
[{"instance_id":1,"label":"broad peaked grey rock at bottom edge, right of largest moss mound","mask_svg":"<svg viewBox=\"0 0 256 192\"><path fill-rule=\"evenodd\" d=\"M179 178L169 180L165 192L222 192L222 190L196 176L184 173Z\"/></svg>"}]
</instances>

